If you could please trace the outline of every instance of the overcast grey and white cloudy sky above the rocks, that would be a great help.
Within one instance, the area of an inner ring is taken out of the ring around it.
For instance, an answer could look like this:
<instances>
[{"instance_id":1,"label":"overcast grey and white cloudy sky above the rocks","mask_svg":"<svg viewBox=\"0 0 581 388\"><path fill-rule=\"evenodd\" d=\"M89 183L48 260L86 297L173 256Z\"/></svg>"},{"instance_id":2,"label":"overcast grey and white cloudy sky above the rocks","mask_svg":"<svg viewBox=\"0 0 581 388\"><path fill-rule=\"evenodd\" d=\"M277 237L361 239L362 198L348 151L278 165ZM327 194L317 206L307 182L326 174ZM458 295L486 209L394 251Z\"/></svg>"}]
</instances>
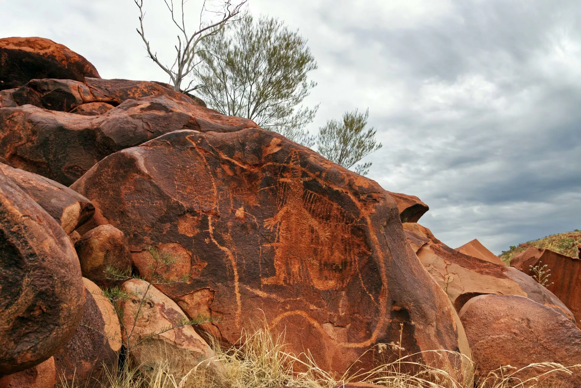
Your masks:
<instances>
[{"instance_id":1,"label":"overcast grey and white cloudy sky above the rocks","mask_svg":"<svg viewBox=\"0 0 581 388\"><path fill-rule=\"evenodd\" d=\"M154 49L175 31L145 0ZM189 0L192 23L199 2ZM581 3L577 0L249 0L309 39L311 130L370 110L370 178L417 195L420 223L494 253L581 229ZM168 81L145 56L132 0L0 0L0 36L41 36L103 78Z\"/></svg>"}]
</instances>

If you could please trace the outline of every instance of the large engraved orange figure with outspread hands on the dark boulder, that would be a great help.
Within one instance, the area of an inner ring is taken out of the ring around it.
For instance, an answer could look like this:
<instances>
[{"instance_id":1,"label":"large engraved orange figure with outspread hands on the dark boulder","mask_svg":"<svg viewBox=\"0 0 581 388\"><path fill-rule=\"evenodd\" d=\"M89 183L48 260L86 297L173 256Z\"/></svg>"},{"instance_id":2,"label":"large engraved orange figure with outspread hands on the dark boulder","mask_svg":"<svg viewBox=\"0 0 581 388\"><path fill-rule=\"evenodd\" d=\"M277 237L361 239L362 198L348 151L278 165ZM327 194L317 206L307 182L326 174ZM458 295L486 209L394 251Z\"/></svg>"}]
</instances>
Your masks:
<instances>
[{"instance_id":1,"label":"large engraved orange figure with outspread hands on the dark boulder","mask_svg":"<svg viewBox=\"0 0 581 388\"><path fill-rule=\"evenodd\" d=\"M363 239L353 235L355 220L338 204L309 189L293 150L281 166L274 217L264 227L275 231L275 275L263 285L310 283L320 290L342 288L357 271L357 258L368 254Z\"/></svg>"}]
</instances>

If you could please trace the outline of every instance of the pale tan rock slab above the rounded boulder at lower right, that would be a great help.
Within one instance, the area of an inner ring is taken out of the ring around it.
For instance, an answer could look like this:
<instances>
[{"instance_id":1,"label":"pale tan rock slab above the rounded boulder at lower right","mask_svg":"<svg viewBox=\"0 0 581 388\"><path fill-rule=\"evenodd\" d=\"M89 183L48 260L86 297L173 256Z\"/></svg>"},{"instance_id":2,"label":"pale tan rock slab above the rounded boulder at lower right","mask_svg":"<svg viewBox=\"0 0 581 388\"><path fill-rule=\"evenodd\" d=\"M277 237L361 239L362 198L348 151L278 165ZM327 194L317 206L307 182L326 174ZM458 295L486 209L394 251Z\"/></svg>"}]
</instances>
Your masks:
<instances>
[{"instance_id":1,"label":"pale tan rock slab above the rounded boulder at lower right","mask_svg":"<svg viewBox=\"0 0 581 388\"><path fill-rule=\"evenodd\" d=\"M552 307L575 321L571 311L553 293L515 268L468 256L443 244L426 243L417 256L457 311L478 295L518 295Z\"/></svg>"}]
</instances>

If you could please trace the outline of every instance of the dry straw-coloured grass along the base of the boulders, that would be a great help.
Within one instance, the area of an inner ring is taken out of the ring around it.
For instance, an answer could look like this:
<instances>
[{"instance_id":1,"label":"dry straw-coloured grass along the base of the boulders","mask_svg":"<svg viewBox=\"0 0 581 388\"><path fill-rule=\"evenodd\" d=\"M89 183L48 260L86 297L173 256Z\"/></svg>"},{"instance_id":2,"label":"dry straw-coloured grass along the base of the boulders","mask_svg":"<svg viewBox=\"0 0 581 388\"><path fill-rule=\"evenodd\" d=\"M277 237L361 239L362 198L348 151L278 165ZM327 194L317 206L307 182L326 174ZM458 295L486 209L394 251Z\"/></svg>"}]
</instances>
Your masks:
<instances>
[{"instance_id":1,"label":"dry straw-coloured grass along the base of the boulders","mask_svg":"<svg viewBox=\"0 0 581 388\"><path fill-rule=\"evenodd\" d=\"M167 373L168 362L159 365L148 376L138 369L124 369L112 375L107 373L107 383L103 388L260 388L292 386L306 388L333 388L349 382L365 382L392 388L564 388L551 381L555 373L572 374L575 367L564 367L555 363L531 364L517 369L510 366L491 372L487 378L474 385L471 381L458 382L448 372L421 365L413 361L414 355L406 355L389 364L381 365L371 371L347 371L343 376L333 376L317 367L309 354L295 356L284 351L284 336L273 337L268 329L258 329L250 335L244 335L241 346L223 349L216 341L212 343L216 359L224 367L219 380L206 375L205 363L192 369L186 376L175 378ZM241 339L242 339L241 337ZM385 349L385 346L384 346ZM450 353L458 357L461 354L448 351L434 351L440 357ZM469 360L468 360L469 361ZM474 367L468 364L469 369ZM415 370L413 374L403 370ZM581 371L581 369L577 369ZM520 380L523 372L532 371L533 377ZM548 379L547 379L548 378ZM64 388L81 388L67 386Z\"/></svg>"}]
</instances>

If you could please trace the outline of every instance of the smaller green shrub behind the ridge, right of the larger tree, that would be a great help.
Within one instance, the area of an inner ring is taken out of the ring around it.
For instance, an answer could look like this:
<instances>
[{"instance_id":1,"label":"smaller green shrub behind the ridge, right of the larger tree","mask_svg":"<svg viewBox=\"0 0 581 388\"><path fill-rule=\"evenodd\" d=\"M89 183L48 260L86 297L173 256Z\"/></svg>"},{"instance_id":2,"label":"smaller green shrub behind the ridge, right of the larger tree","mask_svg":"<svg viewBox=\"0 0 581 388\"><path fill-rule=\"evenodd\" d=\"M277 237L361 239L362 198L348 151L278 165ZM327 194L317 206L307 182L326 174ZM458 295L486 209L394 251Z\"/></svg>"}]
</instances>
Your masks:
<instances>
[{"instance_id":1,"label":"smaller green shrub behind the ridge, right of the larger tree","mask_svg":"<svg viewBox=\"0 0 581 388\"><path fill-rule=\"evenodd\" d=\"M351 168L365 156L382 147L375 141L375 128L365 131L369 109L365 113L358 110L345 112L343 120L329 120L327 124L319 128L317 137L317 150L327 159L340 164L345 168ZM367 175L371 162L357 164L354 171L357 174Z\"/></svg>"}]
</instances>

